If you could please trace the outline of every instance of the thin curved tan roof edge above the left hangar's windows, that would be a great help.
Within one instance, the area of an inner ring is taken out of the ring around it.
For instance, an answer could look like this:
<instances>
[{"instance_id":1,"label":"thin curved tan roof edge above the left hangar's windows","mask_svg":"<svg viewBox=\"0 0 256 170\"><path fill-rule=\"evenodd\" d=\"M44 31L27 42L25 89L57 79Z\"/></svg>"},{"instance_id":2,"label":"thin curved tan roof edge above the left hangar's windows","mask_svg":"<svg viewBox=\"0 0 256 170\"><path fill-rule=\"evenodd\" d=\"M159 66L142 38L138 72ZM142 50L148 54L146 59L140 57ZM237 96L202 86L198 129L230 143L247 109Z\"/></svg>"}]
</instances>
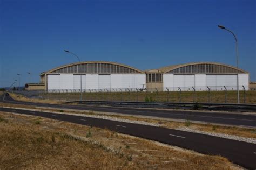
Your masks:
<instances>
[{"instance_id":1,"label":"thin curved tan roof edge above the left hangar's windows","mask_svg":"<svg viewBox=\"0 0 256 170\"><path fill-rule=\"evenodd\" d=\"M123 65L123 64L120 64L120 63L117 63L117 62L109 62L109 61L82 61L82 62L70 63L68 65L63 65L63 66L59 66L59 67L50 69L50 70L48 70L46 72L41 73L40 76L42 76L44 74L49 74L49 73L55 72L56 70L59 70L59 69L62 69L62 68L76 66L76 65L84 65L84 64L88 64L88 63L107 63L107 64L110 64L110 65L116 65L116 66L130 68L132 70L135 70L138 73L145 73L142 70L139 70L137 68L134 68L134 67L131 67L131 66L127 66L127 65Z\"/></svg>"}]
</instances>

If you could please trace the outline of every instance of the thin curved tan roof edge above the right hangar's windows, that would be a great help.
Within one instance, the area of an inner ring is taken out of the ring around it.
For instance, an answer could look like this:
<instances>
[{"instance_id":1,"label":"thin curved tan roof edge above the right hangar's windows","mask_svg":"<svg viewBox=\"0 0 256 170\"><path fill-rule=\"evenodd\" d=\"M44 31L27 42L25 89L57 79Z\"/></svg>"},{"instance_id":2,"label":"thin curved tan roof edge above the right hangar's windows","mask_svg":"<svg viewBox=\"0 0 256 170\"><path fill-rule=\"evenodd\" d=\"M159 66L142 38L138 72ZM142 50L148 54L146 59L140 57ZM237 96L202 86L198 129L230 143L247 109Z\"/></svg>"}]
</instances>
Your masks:
<instances>
[{"instance_id":1,"label":"thin curved tan roof edge above the right hangar's windows","mask_svg":"<svg viewBox=\"0 0 256 170\"><path fill-rule=\"evenodd\" d=\"M190 63L184 63L184 64L179 64L179 65L171 65L171 66L166 66L166 67L161 67L159 68L159 70L161 70L164 73L170 72L171 70L180 68L180 67L184 67L184 66L192 66L192 65L200 65L200 64L211 64L211 65L219 65L219 66L225 66L225 67L230 67L233 69L237 69L237 67L233 67L230 65L225 65L223 63L218 63L218 62L190 62ZM238 70L242 73L248 73L245 70L242 70L240 68L238 68Z\"/></svg>"}]
</instances>

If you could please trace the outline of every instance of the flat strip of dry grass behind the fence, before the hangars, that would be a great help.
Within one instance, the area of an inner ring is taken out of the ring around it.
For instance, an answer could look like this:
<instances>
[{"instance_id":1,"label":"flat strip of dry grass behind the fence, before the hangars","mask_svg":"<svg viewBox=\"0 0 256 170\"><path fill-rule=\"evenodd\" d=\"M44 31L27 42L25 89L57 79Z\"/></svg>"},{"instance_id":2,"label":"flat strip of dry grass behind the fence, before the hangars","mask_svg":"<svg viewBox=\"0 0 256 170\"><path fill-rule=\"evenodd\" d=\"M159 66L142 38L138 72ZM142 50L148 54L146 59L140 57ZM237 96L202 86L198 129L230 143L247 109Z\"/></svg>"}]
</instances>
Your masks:
<instances>
[{"instance_id":1,"label":"flat strip of dry grass behind the fence, before the hangars","mask_svg":"<svg viewBox=\"0 0 256 170\"><path fill-rule=\"evenodd\" d=\"M41 95L43 98L74 101L79 100L80 93L45 93ZM83 99L92 101L149 101L160 102L179 102L179 91L167 92L116 92L116 93L83 93ZM240 101L244 102L244 91L240 91ZM182 91L181 102L208 102L208 91ZM212 103L225 103L225 91L210 91L210 102ZM227 91L227 103L237 103L237 91ZM246 91L246 103L256 103L256 91Z\"/></svg>"}]
</instances>

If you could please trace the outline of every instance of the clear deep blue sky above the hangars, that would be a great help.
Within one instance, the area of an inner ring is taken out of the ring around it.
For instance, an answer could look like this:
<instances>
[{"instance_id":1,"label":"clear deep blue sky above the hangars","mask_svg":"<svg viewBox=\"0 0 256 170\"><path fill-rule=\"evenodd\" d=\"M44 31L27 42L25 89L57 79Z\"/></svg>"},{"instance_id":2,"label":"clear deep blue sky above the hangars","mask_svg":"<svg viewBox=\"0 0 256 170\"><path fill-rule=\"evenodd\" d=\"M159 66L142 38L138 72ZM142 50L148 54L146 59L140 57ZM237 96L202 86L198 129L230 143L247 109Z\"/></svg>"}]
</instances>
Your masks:
<instances>
[{"instance_id":1,"label":"clear deep blue sky above the hangars","mask_svg":"<svg viewBox=\"0 0 256 170\"><path fill-rule=\"evenodd\" d=\"M82 61L138 69L214 61L236 65L256 81L256 1L0 0L0 87L21 84Z\"/></svg>"}]
</instances>

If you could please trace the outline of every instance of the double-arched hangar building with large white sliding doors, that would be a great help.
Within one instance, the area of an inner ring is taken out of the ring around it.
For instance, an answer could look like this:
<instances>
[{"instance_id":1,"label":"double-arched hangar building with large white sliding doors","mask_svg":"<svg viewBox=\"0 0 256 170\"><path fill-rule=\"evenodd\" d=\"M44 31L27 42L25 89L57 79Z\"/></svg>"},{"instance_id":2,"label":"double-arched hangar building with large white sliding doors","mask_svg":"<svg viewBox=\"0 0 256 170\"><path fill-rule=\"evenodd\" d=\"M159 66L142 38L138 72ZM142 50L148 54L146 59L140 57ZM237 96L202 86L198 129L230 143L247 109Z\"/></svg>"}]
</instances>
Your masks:
<instances>
[{"instance_id":1,"label":"double-arched hangar building with large white sliding doors","mask_svg":"<svg viewBox=\"0 0 256 170\"><path fill-rule=\"evenodd\" d=\"M142 71L106 61L76 62L41 73L45 90L228 90L237 88L237 68L216 62L194 62ZM239 89L248 90L249 73L239 69Z\"/></svg>"}]
</instances>

